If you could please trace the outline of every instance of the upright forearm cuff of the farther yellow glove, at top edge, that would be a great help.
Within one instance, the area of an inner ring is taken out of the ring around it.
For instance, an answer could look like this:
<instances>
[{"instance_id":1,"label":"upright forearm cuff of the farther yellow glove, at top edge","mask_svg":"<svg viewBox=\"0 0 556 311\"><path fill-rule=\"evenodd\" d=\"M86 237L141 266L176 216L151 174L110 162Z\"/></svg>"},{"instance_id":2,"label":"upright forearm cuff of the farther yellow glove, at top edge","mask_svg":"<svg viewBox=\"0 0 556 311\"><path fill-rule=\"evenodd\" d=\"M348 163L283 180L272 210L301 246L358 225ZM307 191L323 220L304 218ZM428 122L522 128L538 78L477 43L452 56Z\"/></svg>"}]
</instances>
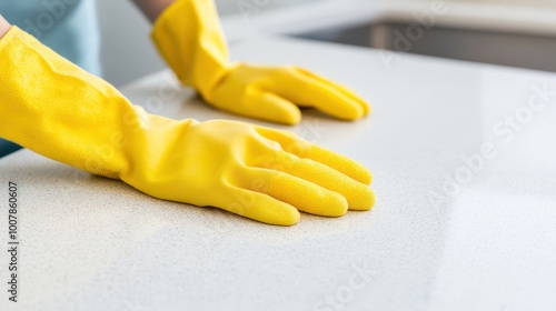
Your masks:
<instances>
[{"instance_id":1,"label":"upright forearm cuff of the farther yellow glove, at top edge","mask_svg":"<svg viewBox=\"0 0 556 311\"><path fill-rule=\"evenodd\" d=\"M207 101L228 70L228 49L214 1L176 0L151 33L160 54L183 84Z\"/></svg>"}]
</instances>

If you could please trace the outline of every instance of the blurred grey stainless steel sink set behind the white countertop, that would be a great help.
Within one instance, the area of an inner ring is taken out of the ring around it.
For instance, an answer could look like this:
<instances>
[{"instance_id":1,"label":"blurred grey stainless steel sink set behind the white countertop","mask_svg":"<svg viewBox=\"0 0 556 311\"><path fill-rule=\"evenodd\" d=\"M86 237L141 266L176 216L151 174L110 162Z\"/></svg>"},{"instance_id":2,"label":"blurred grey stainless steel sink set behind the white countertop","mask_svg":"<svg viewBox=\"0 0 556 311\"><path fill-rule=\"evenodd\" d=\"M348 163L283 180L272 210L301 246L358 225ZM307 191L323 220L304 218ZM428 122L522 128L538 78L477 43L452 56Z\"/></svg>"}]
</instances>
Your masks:
<instances>
[{"instance_id":1,"label":"blurred grey stainless steel sink set behind the white countertop","mask_svg":"<svg viewBox=\"0 0 556 311\"><path fill-rule=\"evenodd\" d=\"M556 37L548 36L380 22L296 37L556 72Z\"/></svg>"}]
</instances>

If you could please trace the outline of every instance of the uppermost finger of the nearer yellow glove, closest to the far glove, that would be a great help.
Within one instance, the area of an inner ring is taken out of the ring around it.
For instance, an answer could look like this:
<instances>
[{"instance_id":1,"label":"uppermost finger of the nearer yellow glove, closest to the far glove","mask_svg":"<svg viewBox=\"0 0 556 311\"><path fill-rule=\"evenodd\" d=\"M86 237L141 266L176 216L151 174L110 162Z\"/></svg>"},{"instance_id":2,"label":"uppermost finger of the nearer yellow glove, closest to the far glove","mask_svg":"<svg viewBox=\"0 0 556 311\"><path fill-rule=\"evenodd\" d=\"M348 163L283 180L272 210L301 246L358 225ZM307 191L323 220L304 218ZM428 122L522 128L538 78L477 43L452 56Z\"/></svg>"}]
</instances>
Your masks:
<instances>
[{"instance_id":1,"label":"uppermost finger of the nearer yellow glove, closest to the far glove","mask_svg":"<svg viewBox=\"0 0 556 311\"><path fill-rule=\"evenodd\" d=\"M373 174L370 171L355 160L301 140L294 133L287 131L280 131L266 127L256 127L255 129L264 138L278 142L281 149L286 152L295 154L301 159L311 159L316 162L322 163L364 184L370 184L373 181Z\"/></svg>"}]
</instances>

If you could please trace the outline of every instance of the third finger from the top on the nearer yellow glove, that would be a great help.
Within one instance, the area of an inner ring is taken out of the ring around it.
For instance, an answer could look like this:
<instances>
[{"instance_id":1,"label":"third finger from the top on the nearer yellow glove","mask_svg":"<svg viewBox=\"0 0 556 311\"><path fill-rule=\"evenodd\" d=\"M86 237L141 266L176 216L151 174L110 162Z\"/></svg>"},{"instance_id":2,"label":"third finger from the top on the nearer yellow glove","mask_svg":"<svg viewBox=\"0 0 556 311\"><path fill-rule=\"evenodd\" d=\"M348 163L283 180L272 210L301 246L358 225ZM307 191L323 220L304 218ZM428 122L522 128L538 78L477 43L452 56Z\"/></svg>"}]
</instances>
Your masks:
<instances>
[{"instance_id":1,"label":"third finger from the top on the nearer yellow glove","mask_svg":"<svg viewBox=\"0 0 556 311\"><path fill-rule=\"evenodd\" d=\"M242 188L270 195L300 211L326 217L340 217L347 212L348 204L341 194L307 180L262 168L249 168L248 175L246 180L251 182Z\"/></svg>"}]
</instances>

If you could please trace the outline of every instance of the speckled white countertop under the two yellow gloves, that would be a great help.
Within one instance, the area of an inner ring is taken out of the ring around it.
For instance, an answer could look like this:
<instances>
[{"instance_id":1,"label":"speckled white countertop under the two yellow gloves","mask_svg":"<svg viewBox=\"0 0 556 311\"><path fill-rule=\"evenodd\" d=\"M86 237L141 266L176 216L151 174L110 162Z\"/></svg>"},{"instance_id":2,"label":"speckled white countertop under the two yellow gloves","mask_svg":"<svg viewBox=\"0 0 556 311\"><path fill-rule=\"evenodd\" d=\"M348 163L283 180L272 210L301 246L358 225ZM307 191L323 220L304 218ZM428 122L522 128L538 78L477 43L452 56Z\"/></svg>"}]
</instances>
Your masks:
<instances>
[{"instance_id":1,"label":"speckled white countertop under the two yellow gloves","mask_svg":"<svg viewBox=\"0 0 556 311\"><path fill-rule=\"evenodd\" d=\"M376 207L271 227L20 151L0 160L2 250L8 181L21 204L20 302L2 290L1 310L556 309L556 93L507 143L492 130L556 76L404 54L387 68L378 51L278 38L232 54L302 64L374 102L365 120L307 111L292 130L367 164ZM244 120L165 77L123 91L173 118ZM433 204L485 142L497 154ZM3 284L7 262L1 251Z\"/></svg>"}]
</instances>

